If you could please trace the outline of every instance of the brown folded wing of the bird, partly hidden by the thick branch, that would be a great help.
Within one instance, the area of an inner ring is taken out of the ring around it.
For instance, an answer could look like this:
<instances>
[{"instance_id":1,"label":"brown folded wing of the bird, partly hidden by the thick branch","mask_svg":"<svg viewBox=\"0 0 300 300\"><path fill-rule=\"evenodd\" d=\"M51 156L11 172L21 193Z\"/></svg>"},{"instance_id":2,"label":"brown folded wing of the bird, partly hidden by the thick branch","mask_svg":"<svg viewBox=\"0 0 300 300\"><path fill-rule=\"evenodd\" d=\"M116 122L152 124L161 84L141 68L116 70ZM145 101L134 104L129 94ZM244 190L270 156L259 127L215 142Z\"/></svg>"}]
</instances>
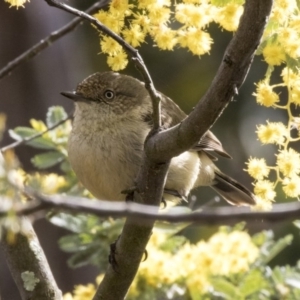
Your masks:
<instances>
[{"instance_id":1,"label":"brown folded wing of the bird, partly hidden by the thick branch","mask_svg":"<svg viewBox=\"0 0 300 300\"><path fill-rule=\"evenodd\" d=\"M167 129L180 123L186 118L186 114L170 98L163 94L161 95L162 127ZM223 157L231 158L231 156L224 150L218 138L209 130L205 133L201 140L194 147L192 147L191 150L205 151L212 159L215 159L214 153L217 153Z\"/></svg>"}]
</instances>

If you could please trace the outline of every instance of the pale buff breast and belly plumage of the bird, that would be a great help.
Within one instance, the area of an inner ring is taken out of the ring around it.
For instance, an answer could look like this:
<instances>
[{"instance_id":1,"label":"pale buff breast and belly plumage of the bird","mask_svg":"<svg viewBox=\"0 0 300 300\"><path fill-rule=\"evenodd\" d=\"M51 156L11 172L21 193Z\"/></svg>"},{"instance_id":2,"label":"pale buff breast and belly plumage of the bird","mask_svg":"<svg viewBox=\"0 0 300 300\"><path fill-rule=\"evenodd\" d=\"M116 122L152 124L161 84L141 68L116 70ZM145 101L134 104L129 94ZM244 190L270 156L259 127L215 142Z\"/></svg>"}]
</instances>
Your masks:
<instances>
[{"instance_id":1,"label":"pale buff breast and belly plumage of the bird","mask_svg":"<svg viewBox=\"0 0 300 300\"><path fill-rule=\"evenodd\" d=\"M134 185L149 130L142 124L131 123L90 133L73 130L70 135L71 166L98 199L124 200L121 191Z\"/></svg>"}]
</instances>

